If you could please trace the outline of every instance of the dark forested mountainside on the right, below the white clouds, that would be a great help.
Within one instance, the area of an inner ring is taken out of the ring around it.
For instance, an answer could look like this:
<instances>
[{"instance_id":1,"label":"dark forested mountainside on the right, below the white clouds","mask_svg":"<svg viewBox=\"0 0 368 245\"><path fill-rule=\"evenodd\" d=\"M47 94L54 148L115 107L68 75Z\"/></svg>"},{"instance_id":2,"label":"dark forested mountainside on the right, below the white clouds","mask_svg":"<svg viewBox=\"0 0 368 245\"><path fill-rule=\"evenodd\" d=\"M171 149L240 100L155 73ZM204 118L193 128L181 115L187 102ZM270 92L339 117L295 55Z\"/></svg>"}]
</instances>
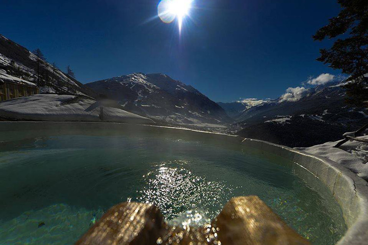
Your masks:
<instances>
[{"instance_id":1,"label":"dark forested mountainside on the right, below the white clouds","mask_svg":"<svg viewBox=\"0 0 368 245\"><path fill-rule=\"evenodd\" d=\"M303 97L265 101L237 117L239 135L290 147L336 141L368 123L367 108L345 103L344 82L307 89Z\"/></svg>"}]
</instances>

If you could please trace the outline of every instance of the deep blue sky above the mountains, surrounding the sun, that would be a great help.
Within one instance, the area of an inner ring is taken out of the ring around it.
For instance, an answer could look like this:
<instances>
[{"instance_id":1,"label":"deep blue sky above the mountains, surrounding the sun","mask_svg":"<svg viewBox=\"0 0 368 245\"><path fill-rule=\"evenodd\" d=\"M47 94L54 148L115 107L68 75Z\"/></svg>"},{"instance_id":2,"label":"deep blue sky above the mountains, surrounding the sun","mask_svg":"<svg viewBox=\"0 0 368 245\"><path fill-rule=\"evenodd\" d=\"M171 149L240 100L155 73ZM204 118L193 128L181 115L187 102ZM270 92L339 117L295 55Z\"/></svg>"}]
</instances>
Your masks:
<instances>
[{"instance_id":1,"label":"deep blue sky above the mountains, surrounding the sun","mask_svg":"<svg viewBox=\"0 0 368 245\"><path fill-rule=\"evenodd\" d=\"M134 72L165 73L214 101L276 98L310 76L338 75L315 61L331 41L312 35L337 0L194 0L179 37L157 17L158 0L2 0L0 33L82 83Z\"/></svg>"}]
</instances>

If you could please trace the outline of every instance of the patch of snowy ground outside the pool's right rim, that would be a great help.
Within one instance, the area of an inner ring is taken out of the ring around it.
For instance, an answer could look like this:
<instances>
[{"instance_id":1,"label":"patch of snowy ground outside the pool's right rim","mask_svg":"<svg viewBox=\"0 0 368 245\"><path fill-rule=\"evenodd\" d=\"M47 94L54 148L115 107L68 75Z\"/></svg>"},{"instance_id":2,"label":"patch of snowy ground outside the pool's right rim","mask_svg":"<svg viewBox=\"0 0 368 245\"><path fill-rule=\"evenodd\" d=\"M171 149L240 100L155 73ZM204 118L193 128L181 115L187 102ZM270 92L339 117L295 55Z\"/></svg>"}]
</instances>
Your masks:
<instances>
[{"instance_id":1,"label":"patch of snowy ground outside the pool's right rim","mask_svg":"<svg viewBox=\"0 0 368 245\"><path fill-rule=\"evenodd\" d=\"M358 138L368 139L368 135ZM348 141L339 148L334 148L337 142L327 142L307 148L296 148L306 152L326 157L355 172L368 180L368 144L358 141Z\"/></svg>"}]
</instances>

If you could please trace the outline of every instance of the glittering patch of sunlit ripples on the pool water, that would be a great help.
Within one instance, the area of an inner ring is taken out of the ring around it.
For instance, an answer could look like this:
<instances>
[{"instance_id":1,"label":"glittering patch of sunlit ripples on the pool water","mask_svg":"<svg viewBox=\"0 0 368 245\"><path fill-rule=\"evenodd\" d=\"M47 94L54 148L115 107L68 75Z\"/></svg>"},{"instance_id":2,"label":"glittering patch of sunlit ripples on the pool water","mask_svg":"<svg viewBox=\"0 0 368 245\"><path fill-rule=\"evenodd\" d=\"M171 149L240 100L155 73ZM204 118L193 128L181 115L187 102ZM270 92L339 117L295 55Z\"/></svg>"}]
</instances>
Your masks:
<instances>
[{"instance_id":1,"label":"glittering patch of sunlit ripples on the pool water","mask_svg":"<svg viewBox=\"0 0 368 245\"><path fill-rule=\"evenodd\" d=\"M187 210L201 209L202 215L214 218L222 203L232 197L233 188L224 181L208 181L186 166L188 161L161 162L144 175L144 185L137 200L154 203L164 217L172 220Z\"/></svg>"}]
</instances>

